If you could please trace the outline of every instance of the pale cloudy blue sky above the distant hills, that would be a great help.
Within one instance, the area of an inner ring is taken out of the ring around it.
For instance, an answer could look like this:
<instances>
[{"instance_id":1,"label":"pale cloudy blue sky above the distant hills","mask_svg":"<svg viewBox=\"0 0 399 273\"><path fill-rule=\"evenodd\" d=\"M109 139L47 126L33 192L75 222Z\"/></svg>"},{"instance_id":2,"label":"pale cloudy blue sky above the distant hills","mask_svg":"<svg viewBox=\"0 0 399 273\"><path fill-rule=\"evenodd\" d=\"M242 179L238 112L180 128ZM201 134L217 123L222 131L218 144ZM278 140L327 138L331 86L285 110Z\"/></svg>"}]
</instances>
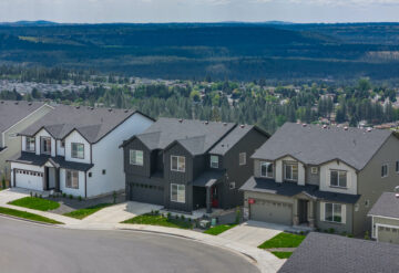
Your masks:
<instances>
[{"instance_id":1,"label":"pale cloudy blue sky above the distant hills","mask_svg":"<svg viewBox=\"0 0 399 273\"><path fill-rule=\"evenodd\" d=\"M399 0L0 0L0 20L397 22Z\"/></svg>"}]
</instances>

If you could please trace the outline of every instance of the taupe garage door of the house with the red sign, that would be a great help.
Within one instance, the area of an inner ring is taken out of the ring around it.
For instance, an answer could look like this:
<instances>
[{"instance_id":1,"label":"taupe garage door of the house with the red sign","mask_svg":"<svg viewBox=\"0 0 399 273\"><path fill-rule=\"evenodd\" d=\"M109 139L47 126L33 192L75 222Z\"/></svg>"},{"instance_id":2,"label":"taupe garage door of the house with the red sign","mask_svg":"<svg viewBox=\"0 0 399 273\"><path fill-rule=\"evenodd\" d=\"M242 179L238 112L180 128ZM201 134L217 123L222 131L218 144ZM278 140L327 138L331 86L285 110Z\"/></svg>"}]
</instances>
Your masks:
<instances>
[{"instance_id":1,"label":"taupe garage door of the house with the red sign","mask_svg":"<svg viewBox=\"0 0 399 273\"><path fill-rule=\"evenodd\" d=\"M250 204L249 213L255 221L293 224L293 206L288 203L256 200Z\"/></svg>"}]
</instances>

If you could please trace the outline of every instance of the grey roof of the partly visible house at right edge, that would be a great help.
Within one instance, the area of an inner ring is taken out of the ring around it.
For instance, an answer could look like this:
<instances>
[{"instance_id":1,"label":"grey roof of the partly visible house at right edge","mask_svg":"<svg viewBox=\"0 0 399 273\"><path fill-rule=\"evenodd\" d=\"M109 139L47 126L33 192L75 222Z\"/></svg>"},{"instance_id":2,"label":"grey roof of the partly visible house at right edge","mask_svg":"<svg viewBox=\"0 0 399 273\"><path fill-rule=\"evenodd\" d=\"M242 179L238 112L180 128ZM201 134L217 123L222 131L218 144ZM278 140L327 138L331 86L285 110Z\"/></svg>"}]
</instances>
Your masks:
<instances>
[{"instance_id":1,"label":"grey roof of the partly visible house at right edge","mask_svg":"<svg viewBox=\"0 0 399 273\"><path fill-rule=\"evenodd\" d=\"M382 192L368 214L399 219L399 198L395 192Z\"/></svg>"}]
</instances>

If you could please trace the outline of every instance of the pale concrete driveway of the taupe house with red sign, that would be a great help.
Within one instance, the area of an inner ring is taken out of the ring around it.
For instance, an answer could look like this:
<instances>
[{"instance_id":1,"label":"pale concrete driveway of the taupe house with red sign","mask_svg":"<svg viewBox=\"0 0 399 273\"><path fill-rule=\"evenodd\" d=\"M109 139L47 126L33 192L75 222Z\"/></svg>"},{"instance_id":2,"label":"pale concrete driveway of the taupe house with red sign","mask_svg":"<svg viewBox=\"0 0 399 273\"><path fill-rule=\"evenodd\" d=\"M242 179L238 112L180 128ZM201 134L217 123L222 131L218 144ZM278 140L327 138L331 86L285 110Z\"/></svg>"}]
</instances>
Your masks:
<instances>
[{"instance_id":1,"label":"pale concrete driveway of the taupe house with red sign","mask_svg":"<svg viewBox=\"0 0 399 273\"><path fill-rule=\"evenodd\" d=\"M286 230L286 225L247 221L229 229L218 237L257 248L263 242Z\"/></svg>"}]
</instances>

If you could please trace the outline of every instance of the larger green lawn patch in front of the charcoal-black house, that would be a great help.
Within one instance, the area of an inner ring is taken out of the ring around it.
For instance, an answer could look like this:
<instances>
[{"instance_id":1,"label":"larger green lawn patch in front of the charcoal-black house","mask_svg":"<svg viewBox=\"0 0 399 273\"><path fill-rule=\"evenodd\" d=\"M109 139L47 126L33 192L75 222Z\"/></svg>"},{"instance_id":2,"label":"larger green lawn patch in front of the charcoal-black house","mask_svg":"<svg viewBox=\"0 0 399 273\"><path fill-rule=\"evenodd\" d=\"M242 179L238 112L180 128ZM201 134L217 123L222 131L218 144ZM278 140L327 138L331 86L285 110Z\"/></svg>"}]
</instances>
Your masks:
<instances>
[{"instance_id":1,"label":"larger green lawn patch in front of the charcoal-black house","mask_svg":"<svg viewBox=\"0 0 399 273\"><path fill-rule=\"evenodd\" d=\"M177 229L192 229L193 224L188 221L175 218L166 218L160 214L146 213L143 216L134 217L122 223L137 223L137 224L151 224L151 225L161 225L167 228L177 228Z\"/></svg>"}]
</instances>

